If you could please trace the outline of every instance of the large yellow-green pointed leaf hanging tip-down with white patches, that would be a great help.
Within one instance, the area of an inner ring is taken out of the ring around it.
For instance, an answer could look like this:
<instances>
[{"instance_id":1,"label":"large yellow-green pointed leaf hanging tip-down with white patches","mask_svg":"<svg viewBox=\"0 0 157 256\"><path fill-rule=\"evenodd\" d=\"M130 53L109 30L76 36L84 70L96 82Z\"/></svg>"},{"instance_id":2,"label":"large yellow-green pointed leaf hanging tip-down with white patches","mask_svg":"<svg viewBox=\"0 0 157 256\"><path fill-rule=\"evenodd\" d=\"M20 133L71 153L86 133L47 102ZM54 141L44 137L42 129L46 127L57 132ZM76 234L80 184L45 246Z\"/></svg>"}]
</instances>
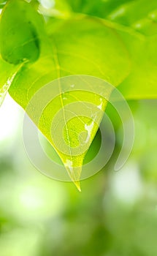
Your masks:
<instances>
[{"instance_id":1,"label":"large yellow-green pointed leaf hanging tip-down with white patches","mask_svg":"<svg viewBox=\"0 0 157 256\"><path fill-rule=\"evenodd\" d=\"M84 140L90 135L86 143L86 151L83 154L77 154L77 156L74 156L70 151L63 154L58 150L58 146L55 145L51 137L51 123L55 113L73 101L78 104L80 102L80 108L83 108L83 103L81 103L83 99L96 106L100 105L102 100L103 110L107 101L99 95L91 95L91 92L82 91L79 93L77 91L77 93L64 94L64 85L58 85L56 88L60 89L60 95L45 108L39 122L36 119L36 114L39 111L43 95L37 99L33 111L32 108L27 108L28 102L42 86L56 78L67 75L92 75L118 86L129 74L129 58L115 31L107 26L105 27L99 20L93 18L79 17L65 21L52 19L47 23L47 34L49 39L40 42L43 46L40 58L34 63L25 63L21 67L16 78L12 80L9 94L27 111L47 140L53 145L64 162L70 178L80 189L79 179L83 159L96 135L98 124L102 120L102 113L98 112L96 114L97 124L92 124L90 134L87 134L87 127L91 125L91 116L81 118L76 116L66 125L65 111L61 111L59 120L64 120L64 140L68 146L76 147L78 145L78 134L84 132ZM106 93L105 88L104 93ZM107 97L109 97L110 91L107 94ZM88 109L88 105L85 104L85 106L85 109ZM77 109L78 106L73 110L77 113ZM88 114L88 111L85 113ZM76 167L78 167L77 170Z\"/></svg>"}]
</instances>

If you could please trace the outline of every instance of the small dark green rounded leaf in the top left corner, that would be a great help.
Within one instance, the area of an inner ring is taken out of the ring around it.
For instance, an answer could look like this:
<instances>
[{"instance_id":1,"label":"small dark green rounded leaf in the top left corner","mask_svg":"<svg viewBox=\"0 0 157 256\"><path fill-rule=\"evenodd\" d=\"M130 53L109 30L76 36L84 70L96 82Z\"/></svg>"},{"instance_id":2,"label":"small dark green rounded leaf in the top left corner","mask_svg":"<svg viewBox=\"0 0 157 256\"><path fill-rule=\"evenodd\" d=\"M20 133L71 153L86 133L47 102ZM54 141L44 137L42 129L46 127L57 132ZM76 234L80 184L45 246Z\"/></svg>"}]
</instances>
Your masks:
<instances>
[{"instance_id":1,"label":"small dark green rounded leaf in the top left corner","mask_svg":"<svg viewBox=\"0 0 157 256\"><path fill-rule=\"evenodd\" d=\"M19 64L39 58L39 36L32 15L37 13L26 1L10 0L4 7L1 15L0 47L5 61Z\"/></svg>"}]
</instances>

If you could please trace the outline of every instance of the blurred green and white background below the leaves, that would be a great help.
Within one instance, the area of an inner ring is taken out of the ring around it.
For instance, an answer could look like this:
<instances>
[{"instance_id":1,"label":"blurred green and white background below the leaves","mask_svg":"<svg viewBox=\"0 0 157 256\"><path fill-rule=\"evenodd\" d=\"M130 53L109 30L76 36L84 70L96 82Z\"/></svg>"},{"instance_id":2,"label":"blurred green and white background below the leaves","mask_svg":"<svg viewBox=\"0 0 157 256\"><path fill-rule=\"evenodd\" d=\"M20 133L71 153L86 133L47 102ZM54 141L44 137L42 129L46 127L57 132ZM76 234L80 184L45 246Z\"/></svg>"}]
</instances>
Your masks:
<instances>
[{"instance_id":1,"label":"blurred green and white background below the leaves","mask_svg":"<svg viewBox=\"0 0 157 256\"><path fill-rule=\"evenodd\" d=\"M118 172L111 159L78 192L31 165L23 147L24 112L6 97L0 108L1 256L157 255L157 100L129 105L131 157ZM118 148L121 127L115 128Z\"/></svg>"}]
</instances>

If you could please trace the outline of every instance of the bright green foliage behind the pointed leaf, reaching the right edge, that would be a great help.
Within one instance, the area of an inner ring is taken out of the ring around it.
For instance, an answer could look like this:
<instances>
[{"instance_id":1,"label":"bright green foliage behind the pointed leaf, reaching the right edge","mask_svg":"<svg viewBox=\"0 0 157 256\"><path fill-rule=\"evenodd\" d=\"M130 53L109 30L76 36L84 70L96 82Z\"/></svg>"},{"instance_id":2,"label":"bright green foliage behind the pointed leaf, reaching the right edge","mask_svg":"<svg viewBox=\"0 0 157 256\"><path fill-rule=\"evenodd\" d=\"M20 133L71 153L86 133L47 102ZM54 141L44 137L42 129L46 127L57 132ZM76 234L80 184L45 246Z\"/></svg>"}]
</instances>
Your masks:
<instances>
[{"instance_id":1,"label":"bright green foliage behind the pointed leaf, reaching the right edge","mask_svg":"<svg viewBox=\"0 0 157 256\"><path fill-rule=\"evenodd\" d=\"M126 99L157 97L157 1L66 0L73 12L102 18L127 48L131 72L118 89Z\"/></svg>"}]
</instances>

